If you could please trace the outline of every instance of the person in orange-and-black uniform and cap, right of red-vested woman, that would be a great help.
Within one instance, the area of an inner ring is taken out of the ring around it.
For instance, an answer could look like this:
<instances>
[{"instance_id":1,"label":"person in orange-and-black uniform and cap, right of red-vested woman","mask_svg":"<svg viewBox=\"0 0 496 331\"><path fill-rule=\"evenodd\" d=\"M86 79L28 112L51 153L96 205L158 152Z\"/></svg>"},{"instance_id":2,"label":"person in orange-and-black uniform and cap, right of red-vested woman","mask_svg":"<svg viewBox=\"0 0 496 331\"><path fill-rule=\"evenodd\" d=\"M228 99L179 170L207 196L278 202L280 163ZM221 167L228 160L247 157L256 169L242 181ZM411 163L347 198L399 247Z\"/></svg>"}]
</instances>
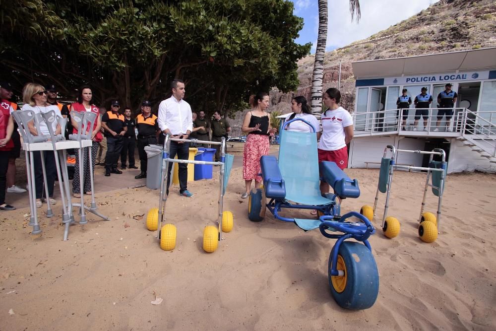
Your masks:
<instances>
[{"instance_id":1,"label":"person in orange-and-black uniform and cap, right of red-vested woman","mask_svg":"<svg viewBox=\"0 0 496 331\"><path fill-rule=\"evenodd\" d=\"M105 176L110 174L122 174L117 169L117 162L123 148L123 137L127 131L124 126L124 115L119 114L119 101L112 102L112 110L102 116L102 128L107 137L107 155L105 156Z\"/></svg>"}]
</instances>

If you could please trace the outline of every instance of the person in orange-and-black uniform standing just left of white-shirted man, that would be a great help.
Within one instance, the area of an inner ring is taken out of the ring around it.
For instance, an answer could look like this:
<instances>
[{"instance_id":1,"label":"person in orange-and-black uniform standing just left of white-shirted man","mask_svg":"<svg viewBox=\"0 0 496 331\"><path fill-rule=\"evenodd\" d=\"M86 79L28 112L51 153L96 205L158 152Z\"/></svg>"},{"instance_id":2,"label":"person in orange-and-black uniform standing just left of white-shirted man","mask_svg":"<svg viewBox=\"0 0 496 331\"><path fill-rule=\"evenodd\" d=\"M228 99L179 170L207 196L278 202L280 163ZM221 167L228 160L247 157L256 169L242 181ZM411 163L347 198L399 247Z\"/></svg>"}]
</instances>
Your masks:
<instances>
[{"instance_id":1,"label":"person in orange-and-black uniform standing just left of white-shirted man","mask_svg":"<svg viewBox=\"0 0 496 331\"><path fill-rule=\"evenodd\" d=\"M141 104L141 114L136 116L136 127L138 128L138 154L141 173L135 176L136 179L146 178L146 167L148 166L148 157L146 156L145 146L157 144L158 128L157 117L151 113L152 107L148 100Z\"/></svg>"}]
</instances>

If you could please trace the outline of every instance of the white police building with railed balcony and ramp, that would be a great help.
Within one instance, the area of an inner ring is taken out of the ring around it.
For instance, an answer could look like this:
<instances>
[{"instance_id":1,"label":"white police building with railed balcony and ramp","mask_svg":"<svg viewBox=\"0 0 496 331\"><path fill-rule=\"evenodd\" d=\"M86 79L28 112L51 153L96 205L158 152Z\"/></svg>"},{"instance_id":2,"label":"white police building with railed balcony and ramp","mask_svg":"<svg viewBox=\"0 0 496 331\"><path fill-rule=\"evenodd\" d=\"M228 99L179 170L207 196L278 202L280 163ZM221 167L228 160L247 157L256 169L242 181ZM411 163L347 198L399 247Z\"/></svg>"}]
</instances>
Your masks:
<instances>
[{"instance_id":1,"label":"white police building with railed balcony and ramp","mask_svg":"<svg viewBox=\"0 0 496 331\"><path fill-rule=\"evenodd\" d=\"M496 171L496 48L352 63L356 78L354 130L349 167L379 167L384 147L445 150L448 173ZM446 83L457 92L453 118L436 125L437 95ZM415 96L433 96L426 131L414 131ZM406 125L396 100L408 89ZM438 131L434 131L435 129ZM399 153L397 163L427 166L427 158Z\"/></svg>"}]
</instances>

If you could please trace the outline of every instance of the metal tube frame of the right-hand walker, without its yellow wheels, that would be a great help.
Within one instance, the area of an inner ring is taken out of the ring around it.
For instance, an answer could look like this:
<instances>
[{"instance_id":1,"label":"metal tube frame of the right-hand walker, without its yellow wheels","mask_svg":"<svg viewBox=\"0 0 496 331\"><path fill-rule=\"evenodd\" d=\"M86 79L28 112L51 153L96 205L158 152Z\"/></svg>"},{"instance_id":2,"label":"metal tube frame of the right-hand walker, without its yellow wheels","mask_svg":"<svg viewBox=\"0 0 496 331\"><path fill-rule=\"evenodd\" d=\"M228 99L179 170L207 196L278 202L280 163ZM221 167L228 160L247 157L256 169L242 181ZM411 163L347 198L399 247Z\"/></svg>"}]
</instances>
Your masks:
<instances>
[{"instance_id":1,"label":"metal tube frame of the right-hand walker, without its yellow wheels","mask_svg":"<svg viewBox=\"0 0 496 331\"><path fill-rule=\"evenodd\" d=\"M389 208L389 194L391 193L391 184L393 180L393 171L394 169L405 169L405 170L417 170L417 171L427 171L427 179L426 179L426 185L424 188L424 197L422 199L422 207L420 208L420 215L419 215L419 223L422 220L422 214L424 213L424 207L426 205L426 197L427 197L427 189L428 187L432 187L433 189L438 190L438 201L437 201L437 231L439 233L440 229L440 219L441 219L441 202L442 202L442 195L444 191L444 181L446 177L446 152L442 150L441 148L434 148L433 151L431 152L426 152L426 151L421 151L421 150L407 150L407 149L396 149L393 145L387 145L384 148L384 154L382 158L386 158L388 151L391 152L391 160L389 161L389 176L388 180L386 183L387 190L386 190L386 202L384 204L384 213L382 215L382 223L381 227L384 227L384 222L386 220L387 216L387 209ZM432 167L416 167L416 166L406 166L406 165L398 165L396 164L396 158L398 152L406 152L406 153L416 153L416 154L428 154L430 155L429 158L429 164L433 161L434 155L440 155L441 156L441 168L432 168ZM429 178L431 177L432 172L440 172L441 178L440 178L440 183L439 187L434 186L433 184L429 184ZM377 185L377 192L375 194L375 199L374 199L374 204L373 204L373 215L375 216L375 210L377 207L377 200L379 199L379 185L380 185L380 179L379 179L379 184Z\"/></svg>"}]
</instances>

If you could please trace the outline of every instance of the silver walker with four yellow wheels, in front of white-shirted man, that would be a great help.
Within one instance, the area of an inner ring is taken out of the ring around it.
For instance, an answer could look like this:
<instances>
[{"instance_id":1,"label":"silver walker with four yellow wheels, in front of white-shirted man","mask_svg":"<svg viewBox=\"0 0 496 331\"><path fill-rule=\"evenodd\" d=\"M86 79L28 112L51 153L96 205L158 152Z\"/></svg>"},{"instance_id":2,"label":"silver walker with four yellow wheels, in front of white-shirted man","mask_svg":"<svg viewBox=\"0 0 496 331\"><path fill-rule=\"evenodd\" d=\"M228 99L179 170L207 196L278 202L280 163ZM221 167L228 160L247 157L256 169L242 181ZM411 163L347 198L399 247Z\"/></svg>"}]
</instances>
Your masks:
<instances>
[{"instance_id":1,"label":"silver walker with four yellow wheels, in front of white-shirted man","mask_svg":"<svg viewBox=\"0 0 496 331\"><path fill-rule=\"evenodd\" d=\"M213 144L220 145L221 149L221 161L199 161L199 160L179 160L169 158L170 144L171 141L183 141L184 143L203 143L203 144ZM226 139L222 138L222 141L203 141L197 139L178 139L172 138L169 134L166 134L164 140L164 147L162 151L162 175L161 175L161 187L160 187L160 200L158 208L151 208L146 216L146 228L150 231L157 231L156 238L160 241L160 248L164 251L172 251L176 248L176 236L177 229L173 224L165 224L165 203L167 202L167 197L165 193L167 192L167 177L170 175L169 162L174 163L192 163L192 164L203 164L219 166L219 203L218 203L218 227L213 225L205 226L203 229L203 250L207 253L215 252L218 247L218 242L222 240L222 232L230 232L233 229L233 213L231 211L223 210L223 200L226 191L226 186L229 180L229 174L231 172L231 166L233 164L233 155L226 154Z\"/></svg>"}]
</instances>

